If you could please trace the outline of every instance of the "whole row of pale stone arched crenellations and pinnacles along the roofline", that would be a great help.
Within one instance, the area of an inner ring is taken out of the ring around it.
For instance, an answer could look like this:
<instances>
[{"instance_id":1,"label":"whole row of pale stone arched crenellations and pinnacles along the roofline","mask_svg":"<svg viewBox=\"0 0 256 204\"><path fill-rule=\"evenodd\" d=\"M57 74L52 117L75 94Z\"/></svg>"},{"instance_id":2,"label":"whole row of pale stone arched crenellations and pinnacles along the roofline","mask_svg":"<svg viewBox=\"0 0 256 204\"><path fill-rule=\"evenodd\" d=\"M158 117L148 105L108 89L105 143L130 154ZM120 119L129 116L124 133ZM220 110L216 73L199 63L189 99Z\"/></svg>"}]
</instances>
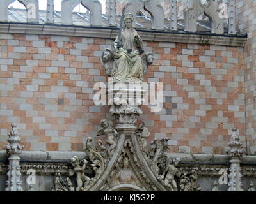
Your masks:
<instances>
[{"instance_id":1,"label":"whole row of pale stone arched crenellations and pinnacles along the roofline","mask_svg":"<svg viewBox=\"0 0 256 204\"><path fill-rule=\"evenodd\" d=\"M2 6L0 8L0 22L8 22L8 6L12 4L15 0L3 0ZM116 22L116 1L108 1L108 11L107 15L104 18L108 21L108 26L118 25ZM38 0L19 0L26 7L26 22L38 24L39 17L39 6ZM74 24L72 18L72 11L74 8L81 4L88 11L90 11L90 26L102 27L102 4L98 0L62 0L61 1L61 24L63 25L72 25ZM228 13L228 25L225 25L228 29L228 34L234 35L237 34L236 30L236 11L234 9L234 0L229 0L229 13ZM159 0L139 0L132 1L128 0L125 4L125 13L133 13L133 15L138 14L139 11L145 10L151 16L150 27L147 29L156 29L156 30L168 30L168 31L177 31L179 30L178 26L178 17L177 17L177 1L170 1L170 10L168 20L170 24L168 26L164 25L164 8L161 6L161 1ZM224 34L224 20L221 19L220 15L221 9L217 1L207 0L207 1L198 1L191 0L188 2L188 6L184 9L184 31L196 33L198 31L198 17L200 15L205 15L209 18L211 26L209 31L213 34ZM47 0L47 11L46 11L46 20L45 24L54 24L54 1ZM64 15L63 15L64 14ZM135 22L134 22L135 24Z\"/></svg>"}]
</instances>

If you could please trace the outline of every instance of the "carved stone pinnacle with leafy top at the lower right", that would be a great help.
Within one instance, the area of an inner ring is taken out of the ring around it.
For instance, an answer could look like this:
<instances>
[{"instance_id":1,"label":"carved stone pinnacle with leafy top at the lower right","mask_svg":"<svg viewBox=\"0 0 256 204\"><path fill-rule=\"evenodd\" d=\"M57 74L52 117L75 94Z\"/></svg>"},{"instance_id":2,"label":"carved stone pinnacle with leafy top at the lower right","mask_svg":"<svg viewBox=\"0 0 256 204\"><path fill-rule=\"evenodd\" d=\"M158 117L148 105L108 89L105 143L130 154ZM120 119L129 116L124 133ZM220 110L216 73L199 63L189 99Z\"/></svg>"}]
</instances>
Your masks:
<instances>
[{"instance_id":1,"label":"carved stone pinnacle with leafy top at the lower right","mask_svg":"<svg viewBox=\"0 0 256 204\"><path fill-rule=\"evenodd\" d=\"M228 191L243 191L243 184L241 182L243 175L241 173L240 157L243 156L244 149L241 147L242 143L240 142L239 136L237 135L237 129L235 128L232 129L232 136L228 146L230 146L230 149L227 150L226 153L228 154L228 157L231 157L230 173L228 175Z\"/></svg>"}]
</instances>

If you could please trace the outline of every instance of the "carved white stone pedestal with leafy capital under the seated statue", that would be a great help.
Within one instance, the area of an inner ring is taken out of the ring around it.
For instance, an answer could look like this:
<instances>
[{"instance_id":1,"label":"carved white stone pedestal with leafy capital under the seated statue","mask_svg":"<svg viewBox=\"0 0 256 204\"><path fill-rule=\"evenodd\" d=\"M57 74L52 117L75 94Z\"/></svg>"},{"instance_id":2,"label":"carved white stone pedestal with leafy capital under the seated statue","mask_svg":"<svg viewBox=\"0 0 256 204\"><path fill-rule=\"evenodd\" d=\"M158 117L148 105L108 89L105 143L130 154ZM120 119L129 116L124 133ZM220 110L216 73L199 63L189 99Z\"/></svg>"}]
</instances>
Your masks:
<instances>
[{"instance_id":1,"label":"carved white stone pedestal with leafy capital under the seated statue","mask_svg":"<svg viewBox=\"0 0 256 204\"><path fill-rule=\"evenodd\" d=\"M117 120L116 129L122 133L134 133L138 116L143 112L140 105L147 103L144 96L148 87L141 81L113 82L108 89L110 113Z\"/></svg>"}]
</instances>

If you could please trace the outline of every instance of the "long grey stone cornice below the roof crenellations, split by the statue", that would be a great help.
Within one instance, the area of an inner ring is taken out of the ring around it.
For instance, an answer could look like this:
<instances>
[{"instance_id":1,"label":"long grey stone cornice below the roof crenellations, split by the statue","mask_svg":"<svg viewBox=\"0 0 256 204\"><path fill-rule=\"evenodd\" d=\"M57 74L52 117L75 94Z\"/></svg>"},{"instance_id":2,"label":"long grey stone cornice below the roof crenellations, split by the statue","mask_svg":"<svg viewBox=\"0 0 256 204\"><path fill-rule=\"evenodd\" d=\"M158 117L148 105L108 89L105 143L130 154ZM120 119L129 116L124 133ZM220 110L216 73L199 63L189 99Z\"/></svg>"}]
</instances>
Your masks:
<instances>
[{"instance_id":1,"label":"long grey stone cornice below the roof crenellations, split by the statue","mask_svg":"<svg viewBox=\"0 0 256 204\"><path fill-rule=\"evenodd\" d=\"M188 33L177 31L148 31L137 29L144 41L164 41L173 43L196 43L203 45L226 45L244 47L247 36ZM49 34L59 36L82 36L115 39L116 27L83 27L56 24L0 23L0 33Z\"/></svg>"}]
</instances>

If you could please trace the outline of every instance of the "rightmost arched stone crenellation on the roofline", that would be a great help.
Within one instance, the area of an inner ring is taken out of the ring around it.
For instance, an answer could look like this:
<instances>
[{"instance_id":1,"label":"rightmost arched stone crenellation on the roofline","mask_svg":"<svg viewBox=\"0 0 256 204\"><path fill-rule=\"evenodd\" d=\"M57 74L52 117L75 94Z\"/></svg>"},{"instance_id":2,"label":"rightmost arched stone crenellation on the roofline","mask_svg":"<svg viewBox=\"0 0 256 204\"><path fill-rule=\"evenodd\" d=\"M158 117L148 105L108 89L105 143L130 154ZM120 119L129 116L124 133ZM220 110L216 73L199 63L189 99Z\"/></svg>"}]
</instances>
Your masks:
<instances>
[{"instance_id":1,"label":"rightmost arched stone crenellation on the roofline","mask_svg":"<svg viewBox=\"0 0 256 204\"><path fill-rule=\"evenodd\" d=\"M218 1L206 0L204 3L200 0L191 0L192 5L184 11L185 31L196 32L196 22L200 15L205 14L212 20L212 33L223 34L223 20L219 17Z\"/></svg>"}]
</instances>

